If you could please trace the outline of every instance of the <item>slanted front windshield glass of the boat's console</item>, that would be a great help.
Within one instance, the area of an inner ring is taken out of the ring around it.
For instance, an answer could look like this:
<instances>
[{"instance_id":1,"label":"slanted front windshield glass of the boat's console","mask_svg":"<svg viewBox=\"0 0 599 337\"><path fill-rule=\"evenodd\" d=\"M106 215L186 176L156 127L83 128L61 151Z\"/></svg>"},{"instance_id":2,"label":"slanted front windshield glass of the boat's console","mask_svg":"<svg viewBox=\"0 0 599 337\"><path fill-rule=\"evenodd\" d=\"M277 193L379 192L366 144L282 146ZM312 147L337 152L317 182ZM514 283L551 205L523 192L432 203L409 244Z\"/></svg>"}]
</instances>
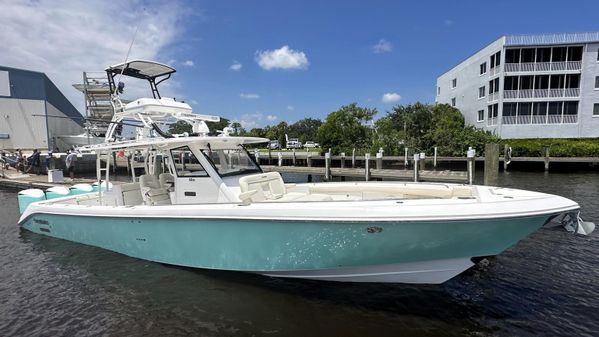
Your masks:
<instances>
[{"instance_id":1,"label":"slanted front windshield glass of the boat's console","mask_svg":"<svg viewBox=\"0 0 599 337\"><path fill-rule=\"evenodd\" d=\"M221 177L262 172L246 149L202 150Z\"/></svg>"}]
</instances>

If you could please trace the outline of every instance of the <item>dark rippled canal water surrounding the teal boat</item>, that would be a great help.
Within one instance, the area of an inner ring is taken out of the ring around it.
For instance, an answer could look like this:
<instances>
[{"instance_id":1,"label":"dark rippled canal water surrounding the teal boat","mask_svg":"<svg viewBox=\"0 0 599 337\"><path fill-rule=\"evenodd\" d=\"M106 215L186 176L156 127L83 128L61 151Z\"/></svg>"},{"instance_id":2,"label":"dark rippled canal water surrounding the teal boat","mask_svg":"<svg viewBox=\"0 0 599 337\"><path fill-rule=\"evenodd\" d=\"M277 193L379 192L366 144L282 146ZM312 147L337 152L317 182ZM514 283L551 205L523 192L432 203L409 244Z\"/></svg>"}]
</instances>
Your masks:
<instances>
[{"instance_id":1,"label":"dark rippled canal water surrounding the teal boat","mask_svg":"<svg viewBox=\"0 0 599 337\"><path fill-rule=\"evenodd\" d=\"M599 174L517 172L500 185L575 199L599 223ZM14 191L0 200L0 336L599 335L598 233L541 229L439 286L339 284L168 267L43 237L17 227Z\"/></svg>"}]
</instances>

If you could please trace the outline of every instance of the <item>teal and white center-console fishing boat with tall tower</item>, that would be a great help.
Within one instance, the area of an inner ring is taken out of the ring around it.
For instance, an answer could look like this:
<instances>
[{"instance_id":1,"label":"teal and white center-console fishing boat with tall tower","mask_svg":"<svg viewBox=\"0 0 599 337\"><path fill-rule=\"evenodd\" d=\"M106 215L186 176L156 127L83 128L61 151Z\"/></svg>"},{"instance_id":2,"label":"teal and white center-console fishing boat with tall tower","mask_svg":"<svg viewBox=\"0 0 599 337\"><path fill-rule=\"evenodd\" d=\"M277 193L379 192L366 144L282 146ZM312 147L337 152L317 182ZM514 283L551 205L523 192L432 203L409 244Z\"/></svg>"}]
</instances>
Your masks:
<instances>
[{"instance_id":1,"label":"teal and white center-console fishing boat with tall tower","mask_svg":"<svg viewBox=\"0 0 599 337\"><path fill-rule=\"evenodd\" d=\"M93 193L49 200L21 194L24 229L177 266L430 284L500 254L560 215L571 231L594 229L580 219L576 202L539 192L434 183L285 183L279 173L264 173L246 149L268 139L235 137L228 130L210 136L206 121L218 117L161 98L157 84L172 73L167 68L149 61L108 68L111 86L115 74L130 74L148 80L154 97L122 106L106 141L82 148L98 156L100 186L110 186L110 160L101 158L113 153L143 154L145 173ZM188 122L192 133L164 132L160 124L167 119ZM113 137L123 120L140 123L136 139Z\"/></svg>"}]
</instances>

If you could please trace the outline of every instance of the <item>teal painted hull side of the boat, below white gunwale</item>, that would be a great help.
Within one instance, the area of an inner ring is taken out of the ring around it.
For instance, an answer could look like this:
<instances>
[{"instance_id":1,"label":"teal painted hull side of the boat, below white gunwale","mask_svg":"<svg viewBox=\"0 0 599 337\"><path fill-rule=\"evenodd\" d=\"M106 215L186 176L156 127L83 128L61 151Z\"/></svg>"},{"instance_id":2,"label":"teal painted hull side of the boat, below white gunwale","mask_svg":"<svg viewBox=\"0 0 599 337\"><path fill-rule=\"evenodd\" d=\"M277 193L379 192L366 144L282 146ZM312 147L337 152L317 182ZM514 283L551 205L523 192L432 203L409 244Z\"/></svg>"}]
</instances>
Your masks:
<instances>
[{"instance_id":1,"label":"teal painted hull side of the boat, below white gunwale","mask_svg":"<svg viewBox=\"0 0 599 337\"><path fill-rule=\"evenodd\" d=\"M392 266L379 270L387 275L389 268L403 270L402 266L414 265L421 277L408 277L408 282L440 283L469 268L472 257L501 253L537 230L548 218L543 215L373 223L34 213L21 225L38 234L185 267L310 278L327 270L336 270L338 274L338 270L346 268L353 275L356 268ZM458 262L455 267L446 268L440 278L422 274L420 269L433 268L429 264L438 265L439 261ZM408 273L402 275L409 276ZM397 275L382 279L314 278L365 282L403 282L405 279Z\"/></svg>"}]
</instances>

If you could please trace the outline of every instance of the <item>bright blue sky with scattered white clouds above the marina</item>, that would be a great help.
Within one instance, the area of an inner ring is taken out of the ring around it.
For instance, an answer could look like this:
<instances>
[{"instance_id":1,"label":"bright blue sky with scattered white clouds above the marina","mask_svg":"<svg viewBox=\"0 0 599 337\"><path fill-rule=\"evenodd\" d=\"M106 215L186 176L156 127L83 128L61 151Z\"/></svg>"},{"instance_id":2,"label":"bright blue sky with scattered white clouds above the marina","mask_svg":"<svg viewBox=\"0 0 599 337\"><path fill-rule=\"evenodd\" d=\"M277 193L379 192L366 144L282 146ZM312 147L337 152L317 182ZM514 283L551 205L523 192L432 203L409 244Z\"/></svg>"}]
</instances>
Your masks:
<instances>
[{"instance_id":1,"label":"bright blue sky with scattered white clouds above the marina","mask_svg":"<svg viewBox=\"0 0 599 337\"><path fill-rule=\"evenodd\" d=\"M352 102L380 118L434 102L439 75L502 35L599 31L599 1L564 4L0 0L0 65L45 72L83 111L71 84L123 62L131 45L129 59L177 69L163 96L246 129ZM127 95L150 95L140 85L127 82Z\"/></svg>"}]
</instances>

